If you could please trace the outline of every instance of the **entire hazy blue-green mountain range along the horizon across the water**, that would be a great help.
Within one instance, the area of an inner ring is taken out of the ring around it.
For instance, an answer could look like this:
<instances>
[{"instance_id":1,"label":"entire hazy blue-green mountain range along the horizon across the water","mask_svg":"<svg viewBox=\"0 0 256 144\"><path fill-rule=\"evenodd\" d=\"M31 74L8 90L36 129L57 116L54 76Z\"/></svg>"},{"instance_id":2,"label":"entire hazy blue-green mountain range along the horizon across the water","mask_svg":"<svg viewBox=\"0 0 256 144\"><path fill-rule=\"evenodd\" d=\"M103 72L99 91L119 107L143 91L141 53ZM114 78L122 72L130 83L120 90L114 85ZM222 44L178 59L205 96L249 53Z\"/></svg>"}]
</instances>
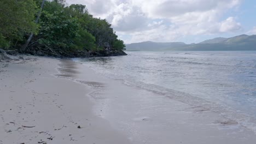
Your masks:
<instances>
[{"instance_id":1,"label":"entire hazy blue-green mountain range along the horizon across the water","mask_svg":"<svg viewBox=\"0 0 256 144\"><path fill-rule=\"evenodd\" d=\"M214 38L198 44L155 43L145 41L142 43L127 44L126 50L130 51L243 51L256 50L256 35L238 35L232 38Z\"/></svg>"}]
</instances>

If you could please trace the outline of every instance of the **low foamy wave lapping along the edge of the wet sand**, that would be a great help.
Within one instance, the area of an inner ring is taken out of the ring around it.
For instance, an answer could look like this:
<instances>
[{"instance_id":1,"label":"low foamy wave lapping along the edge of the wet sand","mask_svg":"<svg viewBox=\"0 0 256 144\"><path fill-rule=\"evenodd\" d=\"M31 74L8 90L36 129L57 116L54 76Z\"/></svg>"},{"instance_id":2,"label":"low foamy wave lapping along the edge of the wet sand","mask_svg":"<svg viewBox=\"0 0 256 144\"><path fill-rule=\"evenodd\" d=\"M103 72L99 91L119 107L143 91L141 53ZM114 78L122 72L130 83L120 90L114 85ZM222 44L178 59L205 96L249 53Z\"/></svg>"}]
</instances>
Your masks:
<instances>
[{"instance_id":1,"label":"low foamy wave lapping along the edge of the wet sand","mask_svg":"<svg viewBox=\"0 0 256 144\"><path fill-rule=\"evenodd\" d=\"M135 86L156 94L165 95L170 99L181 101L182 103L189 104L191 106L200 107L200 109L197 109L197 112L212 111L219 113L219 115L228 120L218 123L224 125L240 124L247 129L251 129L256 134L256 118L245 113L238 113L237 110L232 109L231 107L207 101L188 93L176 91L174 89L167 89L157 85L146 84L144 82L132 82L125 80L123 83L127 86Z\"/></svg>"}]
</instances>

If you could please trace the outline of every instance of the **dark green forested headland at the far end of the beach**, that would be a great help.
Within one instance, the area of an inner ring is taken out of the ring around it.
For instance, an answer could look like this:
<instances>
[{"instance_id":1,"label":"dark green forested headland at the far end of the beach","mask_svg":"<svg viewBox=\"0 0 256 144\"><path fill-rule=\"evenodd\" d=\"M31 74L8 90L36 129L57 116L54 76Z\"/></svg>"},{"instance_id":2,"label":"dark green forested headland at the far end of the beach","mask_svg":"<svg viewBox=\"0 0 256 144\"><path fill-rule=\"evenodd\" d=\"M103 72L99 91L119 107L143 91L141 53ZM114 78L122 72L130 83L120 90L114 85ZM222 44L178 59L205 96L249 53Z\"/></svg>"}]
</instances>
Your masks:
<instances>
[{"instance_id":1,"label":"dark green forested headland at the far end of the beach","mask_svg":"<svg viewBox=\"0 0 256 144\"><path fill-rule=\"evenodd\" d=\"M125 55L124 47L111 25L90 15L85 5L66 6L61 0L0 1L0 48L4 50L91 57Z\"/></svg>"}]
</instances>

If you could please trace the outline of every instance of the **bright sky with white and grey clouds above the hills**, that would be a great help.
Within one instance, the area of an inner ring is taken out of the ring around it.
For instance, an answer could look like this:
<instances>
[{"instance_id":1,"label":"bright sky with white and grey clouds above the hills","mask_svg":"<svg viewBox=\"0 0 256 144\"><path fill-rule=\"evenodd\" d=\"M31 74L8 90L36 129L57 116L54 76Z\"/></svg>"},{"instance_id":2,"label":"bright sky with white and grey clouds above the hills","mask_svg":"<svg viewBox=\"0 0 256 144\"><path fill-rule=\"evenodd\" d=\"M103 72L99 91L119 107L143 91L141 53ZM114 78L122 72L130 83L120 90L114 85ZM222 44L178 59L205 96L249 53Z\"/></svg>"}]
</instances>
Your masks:
<instances>
[{"instance_id":1,"label":"bright sky with white and grey clouds above the hills","mask_svg":"<svg viewBox=\"0 0 256 144\"><path fill-rule=\"evenodd\" d=\"M255 0L66 0L106 19L126 44L187 44L215 37L256 34Z\"/></svg>"}]
</instances>

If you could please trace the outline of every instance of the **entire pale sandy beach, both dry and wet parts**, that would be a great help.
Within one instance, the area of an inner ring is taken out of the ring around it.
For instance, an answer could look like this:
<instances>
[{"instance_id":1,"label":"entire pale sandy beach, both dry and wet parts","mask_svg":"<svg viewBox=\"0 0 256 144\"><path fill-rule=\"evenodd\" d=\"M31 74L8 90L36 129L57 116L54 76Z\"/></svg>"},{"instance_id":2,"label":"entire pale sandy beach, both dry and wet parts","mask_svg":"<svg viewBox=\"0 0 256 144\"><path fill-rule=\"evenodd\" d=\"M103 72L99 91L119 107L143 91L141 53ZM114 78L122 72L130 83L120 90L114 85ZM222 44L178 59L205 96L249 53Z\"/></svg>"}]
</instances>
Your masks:
<instances>
[{"instance_id":1,"label":"entire pale sandy beach, both dry and wet parts","mask_svg":"<svg viewBox=\"0 0 256 144\"><path fill-rule=\"evenodd\" d=\"M1 144L256 141L218 113L107 79L82 63L22 57L0 63Z\"/></svg>"}]
</instances>

